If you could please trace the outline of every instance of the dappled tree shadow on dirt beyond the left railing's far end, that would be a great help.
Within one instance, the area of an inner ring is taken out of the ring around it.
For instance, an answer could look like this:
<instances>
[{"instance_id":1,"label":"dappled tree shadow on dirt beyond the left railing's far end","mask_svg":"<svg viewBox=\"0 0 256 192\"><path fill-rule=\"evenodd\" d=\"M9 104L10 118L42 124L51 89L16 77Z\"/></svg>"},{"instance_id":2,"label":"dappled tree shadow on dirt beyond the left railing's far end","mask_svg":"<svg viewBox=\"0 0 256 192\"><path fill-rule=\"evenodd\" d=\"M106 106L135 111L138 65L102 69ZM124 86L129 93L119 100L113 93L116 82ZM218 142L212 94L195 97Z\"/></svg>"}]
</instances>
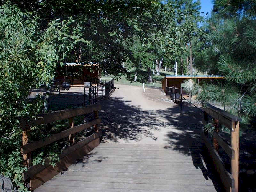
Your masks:
<instances>
[{"instance_id":1,"label":"dappled tree shadow on dirt beyond the left railing's far end","mask_svg":"<svg viewBox=\"0 0 256 192\"><path fill-rule=\"evenodd\" d=\"M104 110L99 112L99 117L102 119L104 139L112 142L119 139L140 141L143 137L157 140L152 132L159 129L159 123L153 116L154 111L141 110L139 106L129 104L131 101L122 99L109 98L101 103Z\"/></svg>"}]
</instances>

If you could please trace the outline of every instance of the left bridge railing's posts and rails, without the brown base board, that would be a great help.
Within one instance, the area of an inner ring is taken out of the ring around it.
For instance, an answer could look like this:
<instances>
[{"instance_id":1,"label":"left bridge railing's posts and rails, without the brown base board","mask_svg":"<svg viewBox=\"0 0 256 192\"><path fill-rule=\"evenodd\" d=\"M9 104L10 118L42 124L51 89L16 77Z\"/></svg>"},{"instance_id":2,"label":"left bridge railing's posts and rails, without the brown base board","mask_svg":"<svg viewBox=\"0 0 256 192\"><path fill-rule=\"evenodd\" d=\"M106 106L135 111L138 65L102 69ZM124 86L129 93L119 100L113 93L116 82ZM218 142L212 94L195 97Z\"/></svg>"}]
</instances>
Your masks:
<instances>
[{"instance_id":1,"label":"left bridge railing's posts and rails, without the brown base board","mask_svg":"<svg viewBox=\"0 0 256 192\"><path fill-rule=\"evenodd\" d=\"M64 158L65 156L68 156L70 153L74 152L75 150L78 150L79 148L83 147L84 145L88 144L94 139L99 138L101 135L101 132L98 131L98 124L100 124L101 119L98 118L98 110L101 109L100 105L92 105L87 107L78 107L68 110L60 110L60 111L54 111L52 113L38 115L36 119L25 119L23 123L21 124L23 128L22 133L22 153L23 153L23 159L24 159L24 166L28 167L28 171L23 173L23 178L25 182L28 185L28 188L31 190L35 189L33 186L31 186L30 178L34 177L37 173L41 172L44 168L49 166L50 161L49 159L45 160L44 165L35 165L32 166L31 161L31 152L44 147L52 142L58 141L60 139L63 139L65 137L69 136L69 143L70 147L66 148L62 153L60 153L58 156L59 158ZM94 112L95 119L84 124L80 124L77 126L74 126L74 117L84 115L87 113ZM69 119L69 128L58 132L56 134L53 134L49 137L46 137L44 139L29 142L29 132L30 127L41 125L41 124L49 124L52 122L60 121L63 119ZM92 134L89 137L84 138L83 140L78 141L75 143L75 133L80 132L84 129L87 129L91 126L94 126L94 134Z\"/></svg>"}]
</instances>

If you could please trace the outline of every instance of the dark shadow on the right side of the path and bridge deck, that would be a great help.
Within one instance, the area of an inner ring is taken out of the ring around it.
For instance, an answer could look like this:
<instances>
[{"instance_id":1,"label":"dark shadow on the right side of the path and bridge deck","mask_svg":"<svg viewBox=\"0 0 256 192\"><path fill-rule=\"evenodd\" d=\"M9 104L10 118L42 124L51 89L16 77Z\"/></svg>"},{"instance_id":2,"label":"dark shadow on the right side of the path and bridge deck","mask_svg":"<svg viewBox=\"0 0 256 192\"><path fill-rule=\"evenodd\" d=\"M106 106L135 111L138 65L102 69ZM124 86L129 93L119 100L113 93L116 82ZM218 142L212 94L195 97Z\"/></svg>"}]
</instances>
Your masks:
<instances>
[{"instance_id":1,"label":"dark shadow on the right side of the path and bridge deck","mask_svg":"<svg viewBox=\"0 0 256 192\"><path fill-rule=\"evenodd\" d=\"M164 118L176 126L176 129L167 133L166 141L173 150L191 156L196 169L201 169L206 180L212 180L218 192L224 191L221 180L216 172L212 160L209 158L207 149L202 143L201 133L203 124L201 119L203 114L194 107L183 106L180 114L180 106L176 105L167 110L157 111L162 113Z\"/></svg>"}]
</instances>

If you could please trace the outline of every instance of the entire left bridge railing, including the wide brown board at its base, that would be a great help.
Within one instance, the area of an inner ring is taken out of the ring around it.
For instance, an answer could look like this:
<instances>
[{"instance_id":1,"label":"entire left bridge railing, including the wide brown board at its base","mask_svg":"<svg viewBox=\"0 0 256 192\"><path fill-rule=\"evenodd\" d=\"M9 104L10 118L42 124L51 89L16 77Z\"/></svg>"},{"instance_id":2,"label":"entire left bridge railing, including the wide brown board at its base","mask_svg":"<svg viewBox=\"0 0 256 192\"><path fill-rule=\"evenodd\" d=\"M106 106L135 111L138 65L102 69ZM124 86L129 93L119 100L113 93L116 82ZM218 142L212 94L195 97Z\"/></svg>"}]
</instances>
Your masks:
<instances>
[{"instance_id":1,"label":"entire left bridge railing, including the wide brown board at its base","mask_svg":"<svg viewBox=\"0 0 256 192\"><path fill-rule=\"evenodd\" d=\"M62 171L63 166L68 167L76 158L84 156L87 152L99 145L99 136L101 132L98 131L98 124L100 124L101 119L98 118L98 110L101 109L100 105L92 105L87 107L79 107L68 110L54 111L52 113L43 114L37 116L35 119L27 119L23 121L22 128L22 153L24 159L24 166L28 167L28 170L23 173L23 179L27 183L28 188L34 190L35 188L42 185L47 180L51 179L53 176ZM84 115L94 112L94 120L74 126L74 117L79 115ZM29 132L30 128L41 125L49 124L56 121L69 119L69 128L53 134L44 139L29 142ZM86 137L75 143L75 133L85 130L94 126L94 132L89 137ZM44 147L52 142L58 141L69 136L70 146L63 150L62 153L58 155L60 162L57 163L56 167L50 166L50 160L46 159L44 165L38 164L32 165L32 152L38 148ZM97 140L97 141L96 141ZM50 171L54 170L54 171ZM41 175L40 175L41 174Z\"/></svg>"}]
</instances>

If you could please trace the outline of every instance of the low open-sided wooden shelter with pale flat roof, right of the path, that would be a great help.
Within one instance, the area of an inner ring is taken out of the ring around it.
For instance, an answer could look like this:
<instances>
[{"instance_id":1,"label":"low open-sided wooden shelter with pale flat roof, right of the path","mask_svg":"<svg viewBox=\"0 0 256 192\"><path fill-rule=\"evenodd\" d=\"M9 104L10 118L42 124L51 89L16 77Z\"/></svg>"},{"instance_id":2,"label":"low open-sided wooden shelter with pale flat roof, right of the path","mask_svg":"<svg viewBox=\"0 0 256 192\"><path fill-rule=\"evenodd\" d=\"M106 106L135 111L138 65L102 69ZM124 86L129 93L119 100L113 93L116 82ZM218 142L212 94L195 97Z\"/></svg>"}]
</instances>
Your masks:
<instances>
[{"instance_id":1,"label":"low open-sided wooden shelter with pale flat roof, right of the path","mask_svg":"<svg viewBox=\"0 0 256 192\"><path fill-rule=\"evenodd\" d=\"M207 75L194 75L194 76L190 76L190 75L167 75L164 77L164 79L161 81L162 82L162 89L164 90L164 92L166 92L166 87L176 87L177 89L180 89L182 82L184 82L184 80L188 80L188 79L197 79L198 82L200 83L200 81L202 80L208 80L208 81L212 81L213 79L224 79L223 76L207 76Z\"/></svg>"}]
</instances>

